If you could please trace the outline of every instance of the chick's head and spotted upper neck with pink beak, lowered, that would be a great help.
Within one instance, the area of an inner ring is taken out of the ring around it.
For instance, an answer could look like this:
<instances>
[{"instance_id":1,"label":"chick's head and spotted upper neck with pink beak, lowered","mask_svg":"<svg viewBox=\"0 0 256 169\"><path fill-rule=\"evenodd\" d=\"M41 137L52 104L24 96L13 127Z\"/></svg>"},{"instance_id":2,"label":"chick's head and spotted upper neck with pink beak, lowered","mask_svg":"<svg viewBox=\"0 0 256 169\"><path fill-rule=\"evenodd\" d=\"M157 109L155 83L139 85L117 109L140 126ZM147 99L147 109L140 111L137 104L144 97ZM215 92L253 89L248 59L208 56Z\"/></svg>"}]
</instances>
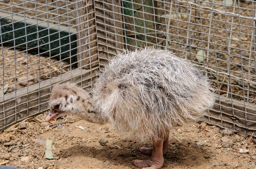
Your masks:
<instances>
[{"instance_id":1,"label":"chick's head and spotted upper neck with pink beak, lowered","mask_svg":"<svg viewBox=\"0 0 256 169\"><path fill-rule=\"evenodd\" d=\"M60 115L73 114L90 122L102 123L99 114L94 111L90 95L71 83L53 87L49 99L49 109L50 113L45 118L46 122Z\"/></svg>"}]
</instances>

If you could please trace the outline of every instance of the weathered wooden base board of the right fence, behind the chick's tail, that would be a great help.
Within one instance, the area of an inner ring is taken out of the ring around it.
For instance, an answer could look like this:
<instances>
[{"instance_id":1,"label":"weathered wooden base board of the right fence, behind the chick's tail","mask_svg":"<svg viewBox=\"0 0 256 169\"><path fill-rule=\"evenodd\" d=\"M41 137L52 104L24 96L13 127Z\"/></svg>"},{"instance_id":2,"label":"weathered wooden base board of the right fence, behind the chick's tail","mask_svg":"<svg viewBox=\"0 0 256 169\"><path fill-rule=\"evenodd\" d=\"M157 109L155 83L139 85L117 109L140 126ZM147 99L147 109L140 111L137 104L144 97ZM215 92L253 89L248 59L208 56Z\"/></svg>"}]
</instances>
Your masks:
<instances>
[{"instance_id":1,"label":"weathered wooden base board of the right fence, behind the chick's tail","mask_svg":"<svg viewBox=\"0 0 256 169\"><path fill-rule=\"evenodd\" d=\"M202 121L228 128L245 136L256 132L256 105L215 94L215 105ZM246 112L246 113L245 113Z\"/></svg>"}]
</instances>

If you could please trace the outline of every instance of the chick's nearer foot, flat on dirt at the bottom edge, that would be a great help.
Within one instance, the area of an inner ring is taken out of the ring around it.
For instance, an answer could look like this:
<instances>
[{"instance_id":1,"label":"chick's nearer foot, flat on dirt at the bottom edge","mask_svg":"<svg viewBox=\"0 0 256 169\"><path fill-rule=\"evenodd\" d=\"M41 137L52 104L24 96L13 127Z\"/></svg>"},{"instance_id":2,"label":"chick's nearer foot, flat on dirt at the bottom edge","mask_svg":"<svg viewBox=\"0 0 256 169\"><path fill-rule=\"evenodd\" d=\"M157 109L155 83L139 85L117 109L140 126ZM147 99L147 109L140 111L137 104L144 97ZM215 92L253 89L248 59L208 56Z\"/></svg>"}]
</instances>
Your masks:
<instances>
[{"instance_id":1,"label":"chick's nearer foot, flat on dirt at the bottom edge","mask_svg":"<svg viewBox=\"0 0 256 169\"><path fill-rule=\"evenodd\" d=\"M131 162L134 166L143 169L160 169L163 166L163 159L161 159L161 157L154 160L133 160Z\"/></svg>"}]
</instances>

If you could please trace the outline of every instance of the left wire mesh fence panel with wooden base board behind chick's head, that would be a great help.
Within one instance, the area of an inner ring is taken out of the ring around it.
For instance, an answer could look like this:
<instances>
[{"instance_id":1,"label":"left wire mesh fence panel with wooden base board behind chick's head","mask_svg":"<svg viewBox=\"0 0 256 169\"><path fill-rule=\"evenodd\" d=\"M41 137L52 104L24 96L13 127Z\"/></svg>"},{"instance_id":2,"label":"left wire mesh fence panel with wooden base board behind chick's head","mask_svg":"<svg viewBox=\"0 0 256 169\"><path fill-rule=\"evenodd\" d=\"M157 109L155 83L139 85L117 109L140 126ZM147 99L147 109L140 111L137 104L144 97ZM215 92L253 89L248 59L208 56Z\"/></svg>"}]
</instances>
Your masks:
<instances>
[{"instance_id":1,"label":"left wire mesh fence panel with wooden base board behind chick's head","mask_svg":"<svg viewBox=\"0 0 256 169\"><path fill-rule=\"evenodd\" d=\"M79 24L89 22L84 15L77 17L78 3L0 1L0 130L47 110L52 85L57 82L92 85L96 68L91 68L91 62L84 65L89 66L87 70L77 66L83 61L80 54L89 51L90 58L90 45L82 51L80 41L90 39L91 28L86 26L77 33ZM87 11L88 7L80 8ZM83 22L79 22L81 18ZM81 37L82 31L87 32L86 37Z\"/></svg>"}]
</instances>

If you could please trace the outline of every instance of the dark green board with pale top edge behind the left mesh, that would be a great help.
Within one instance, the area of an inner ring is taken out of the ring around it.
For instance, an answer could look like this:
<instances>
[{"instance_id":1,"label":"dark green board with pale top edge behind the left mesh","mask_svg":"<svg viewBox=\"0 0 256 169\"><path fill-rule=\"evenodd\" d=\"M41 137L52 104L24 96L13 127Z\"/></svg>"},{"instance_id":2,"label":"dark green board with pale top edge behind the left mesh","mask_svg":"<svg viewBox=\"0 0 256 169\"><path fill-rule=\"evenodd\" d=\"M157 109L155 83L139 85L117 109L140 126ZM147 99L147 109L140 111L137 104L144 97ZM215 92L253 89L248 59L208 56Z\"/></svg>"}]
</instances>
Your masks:
<instances>
[{"instance_id":1,"label":"dark green board with pale top edge behind the left mesh","mask_svg":"<svg viewBox=\"0 0 256 169\"><path fill-rule=\"evenodd\" d=\"M13 23L13 24L12 24ZM48 23L47 20L24 19L17 15L0 12L0 31L4 46L34 53L49 51L55 59L76 55L76 29ZM26 28L25 28L26 26ZM15 38L15 40L14 40ZM38 46L40 51L38 51ZM47 53L45 53L47 54ZM45 55L44 54L44 55ZM49 54L49 53L48 53ZM76 57L72 57L76 62ZM69 62L69 59L67 59Z\"/></svg>"}]
</instances>

